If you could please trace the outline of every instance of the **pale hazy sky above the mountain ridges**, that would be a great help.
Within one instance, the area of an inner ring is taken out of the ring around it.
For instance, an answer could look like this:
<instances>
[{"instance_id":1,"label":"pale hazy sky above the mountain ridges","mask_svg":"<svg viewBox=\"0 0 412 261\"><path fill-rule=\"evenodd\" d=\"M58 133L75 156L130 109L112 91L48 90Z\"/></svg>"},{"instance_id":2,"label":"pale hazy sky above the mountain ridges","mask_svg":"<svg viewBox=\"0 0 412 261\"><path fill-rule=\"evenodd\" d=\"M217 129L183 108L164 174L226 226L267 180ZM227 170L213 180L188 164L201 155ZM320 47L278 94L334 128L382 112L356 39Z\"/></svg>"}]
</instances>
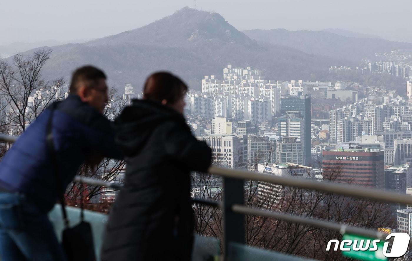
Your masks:
<instances>
[{"instance_id":1,"label":"pale hazy sky above the mountain ridges","mask_svg":"<svg viewBox=\"0 0 412 261\"><path fill-rule=\"evenodd\" d=\"M1 0L0 45L94 39L194 7L194 0ZM412 0L196 0L238 30L339 28L412 42Z\"/></svg>"}]
</instances>

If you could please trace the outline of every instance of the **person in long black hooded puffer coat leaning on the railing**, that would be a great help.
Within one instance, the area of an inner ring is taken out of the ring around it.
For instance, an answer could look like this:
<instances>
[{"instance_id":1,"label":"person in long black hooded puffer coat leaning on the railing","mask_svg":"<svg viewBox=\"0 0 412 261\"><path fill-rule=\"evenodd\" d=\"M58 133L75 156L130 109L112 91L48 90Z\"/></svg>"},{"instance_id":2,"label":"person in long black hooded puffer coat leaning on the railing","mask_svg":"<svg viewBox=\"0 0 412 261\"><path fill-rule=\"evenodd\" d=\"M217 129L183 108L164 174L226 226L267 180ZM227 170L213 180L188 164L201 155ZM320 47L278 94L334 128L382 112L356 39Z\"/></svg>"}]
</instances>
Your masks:
<instances>
[{"instance_id":1,"label":"person in long black hooded puffer coat leaning on the railing","mask_svg":"<svg viewBox=\"0 0 412 261\"><path fill-rule=\"evenodd\" d=\"M186 91L176 76L152 74L143 99L134 100L115 120L126 175L110 212L102 261L191 258L190 171L206 171L212 152L194 138L183 118Z\"/></svg>"}]
</instances>

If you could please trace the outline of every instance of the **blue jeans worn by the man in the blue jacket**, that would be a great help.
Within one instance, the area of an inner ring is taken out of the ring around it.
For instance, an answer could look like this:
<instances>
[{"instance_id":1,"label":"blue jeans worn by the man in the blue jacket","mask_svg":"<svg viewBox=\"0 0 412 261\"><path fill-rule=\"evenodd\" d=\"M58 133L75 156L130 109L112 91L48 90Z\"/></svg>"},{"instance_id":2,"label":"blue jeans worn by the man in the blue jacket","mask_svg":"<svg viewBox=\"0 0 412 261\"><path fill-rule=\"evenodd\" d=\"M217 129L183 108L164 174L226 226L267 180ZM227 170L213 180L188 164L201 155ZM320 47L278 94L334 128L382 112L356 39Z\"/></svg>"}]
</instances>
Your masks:
<instances>
[{"instance_id":1,"label":"blue jeans worn by the man in the blue jacket","mask_svg":"<svg viewBox=\"0 0 412 261\"><path fill-rule=\"evenodd\" d=\"M23 194L0 192L1 261L66 261L47 214Z\"/></svg>"}]
</instances>

